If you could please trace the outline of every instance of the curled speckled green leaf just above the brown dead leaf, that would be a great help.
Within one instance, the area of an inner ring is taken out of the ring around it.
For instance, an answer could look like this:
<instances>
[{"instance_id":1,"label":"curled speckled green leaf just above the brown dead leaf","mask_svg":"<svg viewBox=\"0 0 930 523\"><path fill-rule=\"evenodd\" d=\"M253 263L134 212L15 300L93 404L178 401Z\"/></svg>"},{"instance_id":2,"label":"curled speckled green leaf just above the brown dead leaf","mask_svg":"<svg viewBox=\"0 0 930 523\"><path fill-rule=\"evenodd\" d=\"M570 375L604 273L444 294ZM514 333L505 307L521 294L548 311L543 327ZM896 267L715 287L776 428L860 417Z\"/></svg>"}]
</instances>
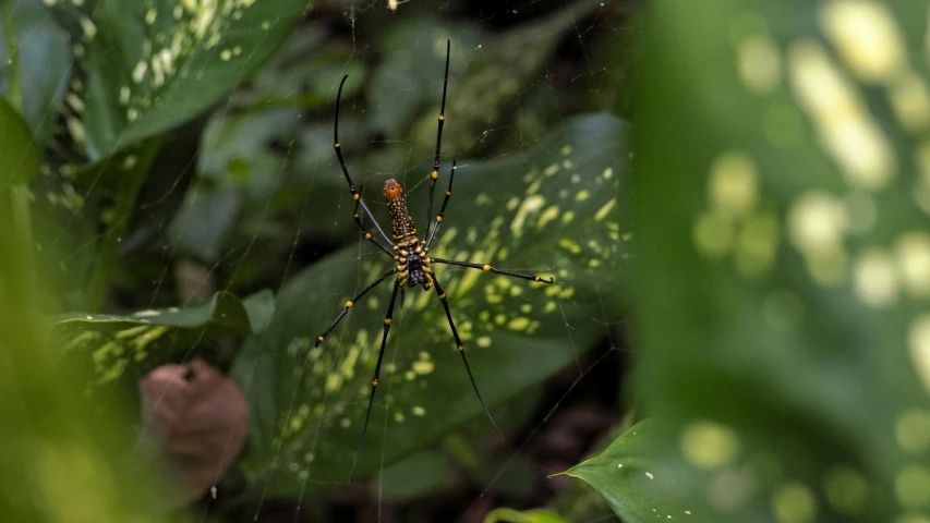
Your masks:
<instances>
[{"instance_id":1,"label":"curled speckled green leaf just above the brown dead leaf","mask_svg":"<svg viewBox=\"0 0 930 523\"><path fill-rule=\"evenodd\" d=\"M96 385L119 379L133 366L189 352L220 335L262 332L271 319L271 291L239 300L218 292L183 308L138 311L128 316L68 314L53 318L51 343L71 360L93 363Z\"/></svg>"}]
</instances>

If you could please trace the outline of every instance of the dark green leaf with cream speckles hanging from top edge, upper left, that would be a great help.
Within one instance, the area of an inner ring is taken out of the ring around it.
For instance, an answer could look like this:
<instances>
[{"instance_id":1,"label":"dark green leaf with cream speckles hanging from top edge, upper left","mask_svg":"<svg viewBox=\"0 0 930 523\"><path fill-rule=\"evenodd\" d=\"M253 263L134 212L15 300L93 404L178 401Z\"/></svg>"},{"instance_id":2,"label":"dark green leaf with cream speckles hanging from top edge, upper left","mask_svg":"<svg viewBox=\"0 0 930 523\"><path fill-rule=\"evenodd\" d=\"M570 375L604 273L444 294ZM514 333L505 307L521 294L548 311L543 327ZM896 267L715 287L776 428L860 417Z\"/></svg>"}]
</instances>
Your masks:
<instances>
[{"instance_id":1,"label":"dark green leaf with cream speckles hanging from top edge, upper left","mask_svg":"<svg viewBox=\"0 0 930 523\"><path fill-rule=\"evenodd\" d=\"M84 76L82 88L70 86L81 109L72 138L98 160L191 120L247 80L309 8L303 0L56 2Z\"/></svg>"}]
</instances>

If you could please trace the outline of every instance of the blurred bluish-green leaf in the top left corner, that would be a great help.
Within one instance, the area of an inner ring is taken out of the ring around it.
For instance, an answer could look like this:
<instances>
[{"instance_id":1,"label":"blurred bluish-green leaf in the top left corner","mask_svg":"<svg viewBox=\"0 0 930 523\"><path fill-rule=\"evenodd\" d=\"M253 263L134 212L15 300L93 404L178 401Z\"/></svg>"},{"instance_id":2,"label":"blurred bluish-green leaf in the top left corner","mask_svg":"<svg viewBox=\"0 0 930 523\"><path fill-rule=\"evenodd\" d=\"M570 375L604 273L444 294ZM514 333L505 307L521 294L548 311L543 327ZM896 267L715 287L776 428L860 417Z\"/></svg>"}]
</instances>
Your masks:
<instances>
[{"instance_id":1,"label":"blurred bluish-green leaf in the top left corner","mask_svg":"<svg viewBox=\"0 0 930 523\"><path fill-rule=\"evenodd\" d=\"M15 42L15 62L7 46L0 46L0 93L16 92L11 86L15 66L22 96L23 120L35 139L36 154L48 143L64 98L71 74L71 51L61 27L49 16L41 0L5 2L3 12L9 25L0 24L0 40ZM12 29L14 34L8 34ZM12 88L12 90L11 90Z\"/></svg>"}]
</instances>

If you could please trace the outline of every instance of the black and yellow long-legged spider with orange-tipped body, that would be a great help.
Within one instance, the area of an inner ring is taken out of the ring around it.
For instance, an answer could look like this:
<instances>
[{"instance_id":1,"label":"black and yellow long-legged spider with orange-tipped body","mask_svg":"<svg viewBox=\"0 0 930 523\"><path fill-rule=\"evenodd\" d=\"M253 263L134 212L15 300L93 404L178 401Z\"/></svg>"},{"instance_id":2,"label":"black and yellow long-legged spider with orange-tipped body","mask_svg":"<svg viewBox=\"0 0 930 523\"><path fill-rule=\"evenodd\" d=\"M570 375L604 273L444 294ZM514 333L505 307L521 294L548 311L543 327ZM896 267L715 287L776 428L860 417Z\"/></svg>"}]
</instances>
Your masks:
<instances>
[{"instance_id":1,"label":"black and yellow long-legged spider with orange-tipped body","mask_svg":"<svg viewBox=\"0 0 930 523\"><path fill-rule=\"evenodd\" d=\"M359 229L362 231L362 235L365 240L369 240L373 244L375 244L379 250L386 253L388 256L394 259L395 265L392 265L389 269L387 269L383 275L381 275L375 281L370 283L367 287L362 289L358 294L352 296L346 305L342 306L342 312L336 316L336 319L329 325L329 328L326 329L322 335L316 337L316 344L314 346L319 346L323 343L323 340L336 328L339 321L349 313L349 309L362 299L365 294L369 293L372 289L377 287L383 281L387 280L391 275L397 275L394 280L394 291L390 294L390 302L387 306L387 314L384 317L384 333L382 335L381 348L378 349L378 360L375 364L375 375L372 378L372 392L369 397L369 409L365 413L365 422L362 425L362 436L359 439L359 448L355 451L355 459L352 461L352 469L349 471L349 482L352 481L352 473L355 471L355 465L359 463L359 457L362 455L362 446L365 442L365 434L369 430L369 419L372 416L372 406L374 405L375 400L375 390L378 386L378 378L381 375L381 366L384 360L384 348L387 342L387 333L390 330L390 321L394 316L394 304L397 300L397 293L400 291L400 306L403 308L403 293L406 287L415 287L422 285L424 291L428 291L430 289L435 289L436 295L439 296L439 301L443 303L443 308L446 311L446 319L449 321L449 328L452 331L452 338L456 340L456 348L459 351L459 354L462 356L462 363L464 363L466 370L468 372L468 377L471 380L471 386L474 389L474 394L478 397L478 401L481 403L481 408L484 409L484 413L487 415L487 418L491 421L491 424L494 426L494 429L497 431L498 436L500 436L500 429L497 428L497 424L494 423L494 418L491 416L491 412L487 410L487 405L484 403L484 399L481 397L481 392L478 390L478 385L474 381L474 375L471 372L471 367L468 364L468 358L464 354L464 344L462 344L461 338L459 338L459 333L456 330L456 324L452 321L452 314L449 312L448 299L446 297L445 291L443 291L443 287L439 284L439 280L436 278L436 273L433 271L431 267L432 264L444 264L444 265L458 265L461 267L469 267L472 269L480 269L490 272L496 272L498 275L510 276L514 278L520 278L530 281L539 281L543 283L553 283L555 280L553 278L542 278L535 275L521 275L519 272L511 272L508 270L502 270L497 267L493 267L488 264L476 264L472 262L462 262L457 259L445 259L445 258L436 258L430 256L430 245L433 243L433 240L436 238L436 233L439 230L439 226L443 223L443 216L446 212L446 205L449 203L449 197L452 195L452 180L456 175L456 162L452 161L451 172L449 173L449 187L446 190L446 197L443 198L443 206L439 208L439 214L436 215L435 220L432 219L433 216L433 191L436 186L436 180L439 178L439 148L443 143L443 124L446 122L446 89L449 85L449 51L451 49L451 41L446 40L446 73L443 81L443 105L439 109L439 124L438 131L436 132L436 154L433 157L433 172L430 173L430 199L426 205L426 220L430 226L427 226L426 234L423 236L423 240L416 235L416 228L413 226L413 219L410 217L410 214L407 211L407 203L403 199L403 187L397 180L390 179L384 182L384 197L387 200L388 210L390 212L391 219L391 232L392 239L389 238L384 230L378 224L377 220L372 216L372 211L365 205L364 199L362 198L362 191L364 186L360 186L359 191L355 191L355 185L352 183L351 177L349 177L349 170L346 168L346 161L342 158L342 148L339 144L339 100L342 98L342 86L346 84L346 78L349 75L342 77L342 82L339 84L339 93L336 96L336 123L334 125L333 137L334 145L333 147L336 149L336 156L339 158L339 166L342 168L342 174L346 177L346 181L349 183L349 191L352 193L352 198L355 200L355 208L353 211L353 218L355 223L359 224ZM377 238L375 238L362 223L360 210L365 215L367 220L374 224L377 233L390 245L390 248L382 244ZM502 436L503 437L503 436Z\"/></svg>"}]
</instances>

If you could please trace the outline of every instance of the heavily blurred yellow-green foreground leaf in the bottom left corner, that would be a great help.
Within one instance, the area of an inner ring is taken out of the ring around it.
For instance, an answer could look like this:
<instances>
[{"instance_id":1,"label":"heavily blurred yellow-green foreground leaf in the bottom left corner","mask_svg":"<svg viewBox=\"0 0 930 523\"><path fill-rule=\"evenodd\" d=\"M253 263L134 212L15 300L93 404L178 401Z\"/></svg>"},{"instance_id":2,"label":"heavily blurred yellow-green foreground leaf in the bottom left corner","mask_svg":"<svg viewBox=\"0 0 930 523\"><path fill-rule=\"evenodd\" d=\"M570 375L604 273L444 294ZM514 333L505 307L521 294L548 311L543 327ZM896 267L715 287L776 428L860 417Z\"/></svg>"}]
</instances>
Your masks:
<instances>
[{"instance_id":1,"label":"heavily blurred yellow-green foreground leaf in the bottom left corner","mask_svg":"<svg viewBox=\"0 0 930 523\"><path fill-rule=\"evenodd\" d=\"M0 184L0 202L9 197ZM157 475L123 437L122 411L81 401L84 376L41 342L26 235L0 205L0 521L168 521Z\"/></svg>"}]
</instances>

